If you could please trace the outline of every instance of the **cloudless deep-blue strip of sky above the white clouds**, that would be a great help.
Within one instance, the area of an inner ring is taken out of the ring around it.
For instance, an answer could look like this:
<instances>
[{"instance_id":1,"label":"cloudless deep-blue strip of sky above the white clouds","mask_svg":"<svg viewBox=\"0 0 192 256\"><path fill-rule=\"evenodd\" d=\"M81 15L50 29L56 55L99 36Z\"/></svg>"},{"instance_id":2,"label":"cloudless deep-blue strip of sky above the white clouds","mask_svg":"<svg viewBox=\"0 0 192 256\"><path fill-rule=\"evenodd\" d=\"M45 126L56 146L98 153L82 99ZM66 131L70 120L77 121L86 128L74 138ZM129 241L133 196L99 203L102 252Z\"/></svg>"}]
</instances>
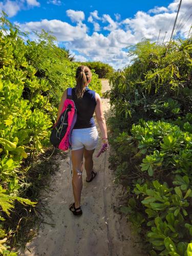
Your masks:
<instances>
[{"instance_id":1,"label":"cloudless deep-blue strip of sky above the white clouds","mask_svg":"<svg viewBox=\"0 0 192 256\"><path fill-rule=\"evenodd\" d=\"M2 2L2 1L0 1ZM12 17L12 21L19 21L21 23L38 21L40 19L60 19L70 22L70 18L66 15L66 11L69 9L83 11L88 17L90 12L97 10L100 15L109 14L112 18L115 18L115 13L119 13L122 19L127 17L133 17L137 11L145 11L154 8L155 6L167 6L172 1L160 1L160 0L138 0L136 1L109 1L109 0L97 0L97 1L70 1L63 0L60 4L48 4L49 1L38 1L40 3L39 8L29 8L25 11L20 11L16 16Z\"/></svg>"}]
</instances>

